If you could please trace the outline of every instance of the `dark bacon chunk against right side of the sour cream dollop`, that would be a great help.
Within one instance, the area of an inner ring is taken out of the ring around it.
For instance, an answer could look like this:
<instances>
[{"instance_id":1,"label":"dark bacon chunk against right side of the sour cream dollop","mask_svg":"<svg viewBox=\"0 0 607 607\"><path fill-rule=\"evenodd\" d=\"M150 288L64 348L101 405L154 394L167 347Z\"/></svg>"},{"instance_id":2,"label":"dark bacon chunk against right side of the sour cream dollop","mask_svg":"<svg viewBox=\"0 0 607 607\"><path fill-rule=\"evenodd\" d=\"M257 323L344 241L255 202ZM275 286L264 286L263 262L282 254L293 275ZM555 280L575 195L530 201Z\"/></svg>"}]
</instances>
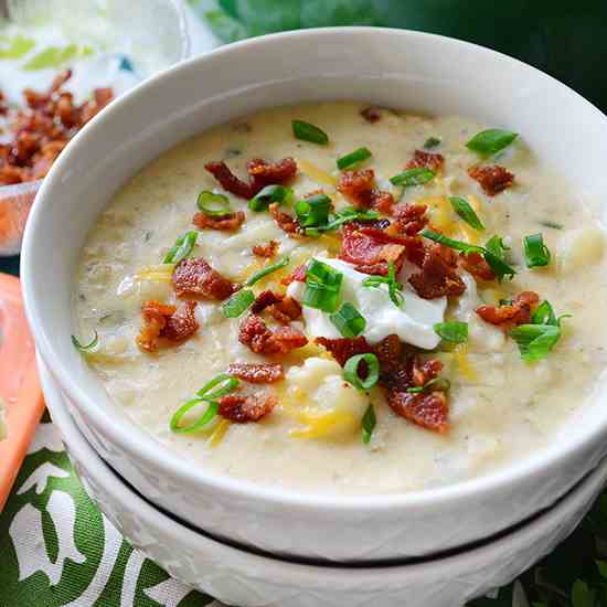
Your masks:
<instances>
[{"instance_id":1,"label":"dark bacon chunk against right side of the sour cream dollop","mask_svg":"<svg viewBox=\"0 0 607 607\"><path fill-rule=\"evenodd\" d=\"M445 248L440 245L426 247L422 271L413 274L408 279L417 295L424 299L458 296L466 290L466 285L455 270L450 257L447 257Z\"/></svg>"}]
</instances>

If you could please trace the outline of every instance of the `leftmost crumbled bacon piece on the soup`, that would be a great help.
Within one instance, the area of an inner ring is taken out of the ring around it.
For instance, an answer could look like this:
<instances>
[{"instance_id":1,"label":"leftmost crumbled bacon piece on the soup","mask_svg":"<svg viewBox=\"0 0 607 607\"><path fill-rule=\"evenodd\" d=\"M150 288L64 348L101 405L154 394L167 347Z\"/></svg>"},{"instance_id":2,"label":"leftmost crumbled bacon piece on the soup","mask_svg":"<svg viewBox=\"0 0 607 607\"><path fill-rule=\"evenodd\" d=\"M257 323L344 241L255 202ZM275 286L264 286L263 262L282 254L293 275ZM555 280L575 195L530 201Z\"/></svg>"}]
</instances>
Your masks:
<instances>
[{"instance_id":1,"label":"leftmost crumbled bacon piece on the soup","mask_svg":"<svg viewBox=\"0 0 607 607\"><path fill-rule=\"evenodd\" d=\"M162 339L181 343L199 329L194 315L195 301L187 301L178 310L160 301L146 301L141 309L143 324L137 337L137 344L145 352L156 352Z\"/></svg>"}]
</instances>

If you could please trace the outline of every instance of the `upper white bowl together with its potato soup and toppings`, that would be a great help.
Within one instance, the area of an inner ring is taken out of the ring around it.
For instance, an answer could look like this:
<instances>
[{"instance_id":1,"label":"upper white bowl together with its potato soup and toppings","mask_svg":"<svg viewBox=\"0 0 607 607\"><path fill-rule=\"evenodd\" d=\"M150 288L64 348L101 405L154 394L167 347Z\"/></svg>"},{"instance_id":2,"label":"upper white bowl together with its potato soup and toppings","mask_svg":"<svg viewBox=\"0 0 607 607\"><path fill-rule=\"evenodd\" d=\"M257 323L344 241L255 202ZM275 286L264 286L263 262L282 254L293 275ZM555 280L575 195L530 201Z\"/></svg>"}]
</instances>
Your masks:
<instances>
[{"instance_id":1,"label":"upper white bowl together with its potato soup and toppings","mask_svg":"<svg viewBox=\"0 0 607 607\"><path fill-rule=\"evenodd\" d=\"M607 450L606 155L590 104L464 42L220 49L52 167L38 351L99 455L204 532L338 562L468 545Z\"/></svg>"}]
</instances>

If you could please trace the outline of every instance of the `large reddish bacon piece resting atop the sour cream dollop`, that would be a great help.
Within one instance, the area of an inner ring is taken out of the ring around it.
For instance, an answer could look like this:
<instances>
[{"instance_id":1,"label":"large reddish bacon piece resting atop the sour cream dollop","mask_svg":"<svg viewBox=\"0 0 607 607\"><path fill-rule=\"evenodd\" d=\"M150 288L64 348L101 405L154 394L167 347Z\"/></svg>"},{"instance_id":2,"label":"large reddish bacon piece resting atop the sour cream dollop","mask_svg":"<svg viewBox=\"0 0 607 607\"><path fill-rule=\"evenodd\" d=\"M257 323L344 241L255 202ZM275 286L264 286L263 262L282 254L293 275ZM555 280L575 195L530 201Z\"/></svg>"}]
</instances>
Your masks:
<instances>
[{"instance_id":1,"label":"large reddish bacon piece resting atop the sour cream dollop","mask_svg":"<svg viewBox=\"0 0 607 607\"><path fill-rule=\"evenodd\" d=\"M391 236L383 231L347 224L343 226L342 233L343 239L339 257L358 266L359 271L372 269L368 273L387 274L388 262L394 262L397 269L402 267L405 246L391 242ZM370 268L370 266L375 266L375 268Z\"/></svg>"}]
</instances>

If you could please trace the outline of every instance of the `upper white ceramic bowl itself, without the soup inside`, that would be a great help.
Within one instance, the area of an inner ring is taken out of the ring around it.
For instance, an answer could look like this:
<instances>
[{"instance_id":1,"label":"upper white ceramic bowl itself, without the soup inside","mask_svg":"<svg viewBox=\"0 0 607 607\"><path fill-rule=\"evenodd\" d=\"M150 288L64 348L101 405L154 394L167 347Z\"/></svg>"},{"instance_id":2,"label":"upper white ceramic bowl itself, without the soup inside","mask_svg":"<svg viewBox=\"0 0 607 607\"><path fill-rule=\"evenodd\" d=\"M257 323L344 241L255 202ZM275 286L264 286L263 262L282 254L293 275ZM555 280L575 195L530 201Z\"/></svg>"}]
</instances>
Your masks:
<instances>
[{"instance_id":1,"label":"upper white ceramic bowl itself, without the soup inside","mask_svg":"<svg viewBox=\"0 0 607 607\"><path fill-rule=\"evenodd\" d=\"M550 448L486 477L406 494L297 494L213 476L160 448L109 401L70 342L79 249L125 180L213 125L266 106L333 98L511 127L578 191L607 200L605 116L518 61L456 40L385 29L253 39L153 77L70 143L44 181L25 233L28 317L79 427L153 502L215 536L278 554L333 561L433 554L524 520L594 468L607 450L605 396L581 411Z\"/></svg>"}]
</instances>

